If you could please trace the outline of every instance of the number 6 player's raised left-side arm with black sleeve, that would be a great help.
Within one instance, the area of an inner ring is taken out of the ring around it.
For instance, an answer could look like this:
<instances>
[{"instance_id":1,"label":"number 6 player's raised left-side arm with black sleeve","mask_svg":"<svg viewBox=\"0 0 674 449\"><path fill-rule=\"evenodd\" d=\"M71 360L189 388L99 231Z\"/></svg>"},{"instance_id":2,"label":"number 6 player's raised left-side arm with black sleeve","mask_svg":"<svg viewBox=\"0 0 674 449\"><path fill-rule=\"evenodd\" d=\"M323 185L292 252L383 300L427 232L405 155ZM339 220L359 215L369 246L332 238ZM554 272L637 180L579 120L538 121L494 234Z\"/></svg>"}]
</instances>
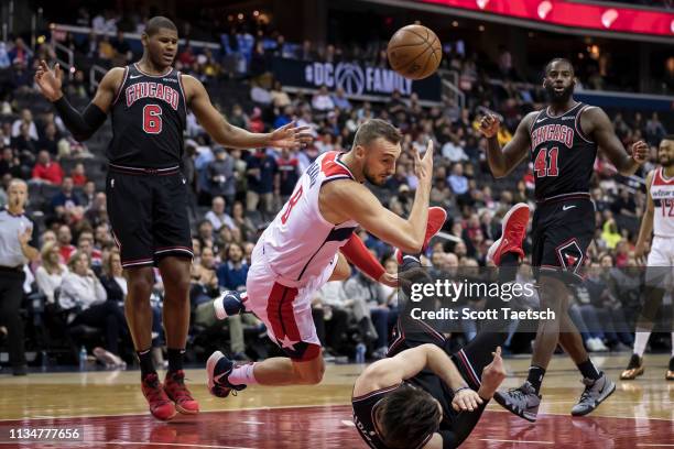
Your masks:
<instances>
[{"instance_id":1,"label":"number 6 player's raised left-side arm with black sleeve","mask_svg":"<svg viewBox=\"0 0 674 449\"><path fill-rule=\"evenodd\" d=\"M42 95L54 103L65 127L78 141L89 139L106 121L108 110L115 100L115 94L122 83L124 69L117 67L104 76L98 85L94 100L80 113L68 102L62 90L63 70L56 64L50 68L46 62L41 61L35 72L35 83Z\"/></svg>"}]
</instances>

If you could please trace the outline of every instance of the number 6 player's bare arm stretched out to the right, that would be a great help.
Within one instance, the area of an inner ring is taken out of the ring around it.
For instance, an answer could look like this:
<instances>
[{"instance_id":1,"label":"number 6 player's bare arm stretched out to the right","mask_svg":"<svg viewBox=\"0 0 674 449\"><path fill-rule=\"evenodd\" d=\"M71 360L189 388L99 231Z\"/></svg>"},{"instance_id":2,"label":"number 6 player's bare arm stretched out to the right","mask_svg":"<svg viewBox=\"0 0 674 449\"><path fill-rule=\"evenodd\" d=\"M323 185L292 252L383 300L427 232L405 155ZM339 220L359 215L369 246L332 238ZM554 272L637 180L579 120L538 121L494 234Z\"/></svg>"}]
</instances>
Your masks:
<instances>
[{"instance_id":1,"label":"number 6 player's bare arm stretched out to the right","mask_svg":"<svg viewBox=\"0 0 674 449\"><path fill-rule=\"evenodd\" d=\"M220 145L232 149L294 149L311 143L312 134L306 127L291 122L269 133L253 133L229 123L210 102L204 85L189 75L181 75L187 105L206 132Z\"/></svg>"}]
</instances>

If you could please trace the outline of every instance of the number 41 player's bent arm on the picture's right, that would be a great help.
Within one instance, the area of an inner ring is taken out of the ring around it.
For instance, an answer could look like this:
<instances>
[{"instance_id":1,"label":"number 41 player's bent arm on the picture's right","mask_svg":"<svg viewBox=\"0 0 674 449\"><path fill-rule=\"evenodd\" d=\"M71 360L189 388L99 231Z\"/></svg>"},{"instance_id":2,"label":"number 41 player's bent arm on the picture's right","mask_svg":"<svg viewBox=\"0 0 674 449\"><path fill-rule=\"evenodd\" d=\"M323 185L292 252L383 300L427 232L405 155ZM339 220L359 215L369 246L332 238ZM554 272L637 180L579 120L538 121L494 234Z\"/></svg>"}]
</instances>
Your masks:
<instances>
[{"instance_id":1,"label":"number 41 player's bent arm on the picture's right","mask_svg":"<svg viewBox=\"0 0 674 449\"><path fill-rule=\"evenodd\" d=\"M586 109L580 116L580 128L595 140L599 150L604 151L621 175L633 175L645 162L648 144L643 141L635 142L632 145L632 155L629 155L616 135L611 120L601 108Z\"/></svg>"}]
</instances>

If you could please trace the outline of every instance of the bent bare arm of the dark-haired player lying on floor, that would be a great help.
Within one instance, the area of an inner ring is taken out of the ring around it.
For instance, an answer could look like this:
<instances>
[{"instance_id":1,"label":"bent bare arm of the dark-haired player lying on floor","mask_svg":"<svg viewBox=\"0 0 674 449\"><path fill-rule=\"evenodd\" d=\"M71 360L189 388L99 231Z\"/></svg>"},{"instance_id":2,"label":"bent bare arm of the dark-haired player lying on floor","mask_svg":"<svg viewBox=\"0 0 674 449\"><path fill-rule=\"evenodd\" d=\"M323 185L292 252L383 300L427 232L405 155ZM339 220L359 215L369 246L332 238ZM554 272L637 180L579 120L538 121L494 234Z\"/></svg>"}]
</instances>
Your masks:
<instances>
[{"instance_id":1,"label":"bent bare arm of the dark-haired player lying on floor","mask_svg":"<svg viewBox=\"0 0 674 449\"><path fill-rule=\"evenodd\" d=\"M456 391L452 402L455 409L472 412L482 404L482 398L468 387L449 355L435 344L422 344L372 363L356 380L354 396L398 385L404 380L414 377L425 368Z\"/></svg>"}]
</instances>

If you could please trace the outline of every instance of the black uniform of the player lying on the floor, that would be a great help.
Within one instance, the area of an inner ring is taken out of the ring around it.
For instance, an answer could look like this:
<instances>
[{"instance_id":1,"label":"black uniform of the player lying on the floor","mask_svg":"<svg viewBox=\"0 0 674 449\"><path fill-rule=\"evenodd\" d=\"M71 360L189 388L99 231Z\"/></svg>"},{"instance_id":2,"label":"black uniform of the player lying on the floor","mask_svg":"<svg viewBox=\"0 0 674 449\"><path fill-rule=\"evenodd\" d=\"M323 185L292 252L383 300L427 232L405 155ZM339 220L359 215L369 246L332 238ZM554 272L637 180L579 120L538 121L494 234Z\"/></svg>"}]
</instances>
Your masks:
<instances>
[{"instance_id":1,"label":"black uniform of the player lying on the floor","mask_svg":"<svg viewBox=\"0 0 674 449\"><path fill-rule=\"evenodd\" d=\"M480 387L482 370L493 360L491 354L497 346L506 340L504 333L480 332L470 343L459 351L449 351L449 341L431 326L423 321L410 324L410 320L399 320L393 329L393 342L387 357L395 354L421 344L435 344L443 349L458 369L461 377L470 388L477 391ZM454 392L435 375L431 370L424 369L414 377L404 381L399 385L392 385L376 392L370 392L363 396L351 397L354 407L354 424L360 437L372 448L384 449L387 445L381 437L380 429L377 427L376 414L380 401L385 395L399 388L421 388L431 394L443 408L443 419L439 424L437 434L443 438L443 448L458 447L472 431L479 421L487 401L485 401L474 412L456 412L452 407ZM413 447L422 448L433 436L426 435Z\"/></svg>"}]
</instances>

